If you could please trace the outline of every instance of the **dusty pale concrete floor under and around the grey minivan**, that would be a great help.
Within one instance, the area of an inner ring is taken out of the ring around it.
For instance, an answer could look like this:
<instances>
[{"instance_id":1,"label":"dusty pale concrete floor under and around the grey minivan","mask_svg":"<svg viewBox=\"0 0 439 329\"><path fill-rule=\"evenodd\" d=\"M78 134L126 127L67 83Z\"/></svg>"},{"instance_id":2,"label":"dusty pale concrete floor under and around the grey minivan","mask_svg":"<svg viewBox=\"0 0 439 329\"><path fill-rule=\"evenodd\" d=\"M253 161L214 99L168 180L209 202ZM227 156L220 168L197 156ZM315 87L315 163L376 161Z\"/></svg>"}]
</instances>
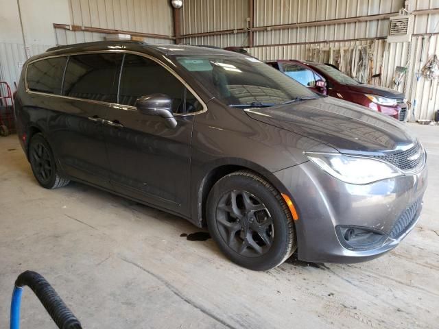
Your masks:
<instances>
[{"instance_id":1,"label":"dusty pale concrete floor under and around the grey minivan","mask_svg":"<svg viewBox=\"0 0 439 329\"><path fill-rule=\"evenodd\" d=\"M0 137L0 328L25 269L43 274L84 328L438 328L439 127L410 125L427 151L423 215L394 251L357 265L230 263L184 219L83 184L48 191L16 136ZM56 328L33 293L23 328Z\"/></svg>"}]
</instances>

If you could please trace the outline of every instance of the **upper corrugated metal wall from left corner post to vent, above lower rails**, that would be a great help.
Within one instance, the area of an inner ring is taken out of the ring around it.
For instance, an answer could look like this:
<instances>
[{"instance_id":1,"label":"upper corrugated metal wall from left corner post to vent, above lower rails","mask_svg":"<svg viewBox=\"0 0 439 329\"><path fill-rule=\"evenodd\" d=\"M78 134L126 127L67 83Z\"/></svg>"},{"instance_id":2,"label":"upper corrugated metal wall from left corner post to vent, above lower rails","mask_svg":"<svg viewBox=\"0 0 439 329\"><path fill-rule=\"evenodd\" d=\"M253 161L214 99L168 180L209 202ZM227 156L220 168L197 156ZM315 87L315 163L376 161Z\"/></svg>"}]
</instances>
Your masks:
<instances>
[{"instance_id":1,"label":"upper corrugated metal wall from left corner post to vent, above lower rails","mask_svg":"<svg viewBox=\"0 0 439 329\"><path fill-rule=\"evenodd\" d=\"M425 0L427 1L427 0ZM403 0L254 0L254 27L294 24L329 19L397 12ZM248 0L186 0L182 9L182 34L213 32L224 29L244 29L250 16ZM299 27L282 30L254 32L254 45L278 43L317 42L351 38L386 36L388 19L379 21ZM241 35L242 34L242 35ZM188 44L241 46L248 42L246 33L185 38ZM223 42L222 45L215 42ZM248 43L247 43L248 45Z\"/></svg>"}]
</instances>

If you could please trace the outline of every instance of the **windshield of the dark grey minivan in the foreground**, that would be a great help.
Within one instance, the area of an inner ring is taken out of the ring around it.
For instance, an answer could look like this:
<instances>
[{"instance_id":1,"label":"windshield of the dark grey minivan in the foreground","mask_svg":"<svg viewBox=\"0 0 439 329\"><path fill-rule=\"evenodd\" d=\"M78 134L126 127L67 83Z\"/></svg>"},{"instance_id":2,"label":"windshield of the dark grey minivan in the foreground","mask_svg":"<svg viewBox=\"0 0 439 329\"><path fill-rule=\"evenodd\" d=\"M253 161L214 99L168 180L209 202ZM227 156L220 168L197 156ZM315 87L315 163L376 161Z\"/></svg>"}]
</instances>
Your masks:
<instances>
[{"instance_id":1,"label":"windshield of the dark grey minivan in the foreground","mask_svg":"<svg viewBox=\"0 0 439 329\"><path fill-rule=\"evenodd\" d=\"M198 55L175 56L175 60L231 107L263 108L319 97L256 58Z\"/></svg>"}]
</instances>

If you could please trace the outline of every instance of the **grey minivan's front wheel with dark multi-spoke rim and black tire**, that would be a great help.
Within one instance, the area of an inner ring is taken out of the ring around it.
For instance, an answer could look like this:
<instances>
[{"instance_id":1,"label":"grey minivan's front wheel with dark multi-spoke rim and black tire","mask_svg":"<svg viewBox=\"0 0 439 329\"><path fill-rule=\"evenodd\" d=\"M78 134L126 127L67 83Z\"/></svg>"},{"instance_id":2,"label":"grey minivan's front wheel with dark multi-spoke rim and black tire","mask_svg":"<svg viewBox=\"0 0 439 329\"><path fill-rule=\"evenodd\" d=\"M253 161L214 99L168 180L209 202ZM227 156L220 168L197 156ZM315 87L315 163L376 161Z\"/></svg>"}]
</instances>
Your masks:
<instances>
[{"instance_id":1,"label":"grey minivan's front wheel with dark multi-spoke rim and black tire","mask_svg":"<svg viewBox=\"0 0 439 329\"><path fill-rule=\"evenodd\" d=\"M251 171L236 171L215 183L206 219L219 249L248 269L281 265L297 247L292 215L281 193Z\"/></svg>"}]
</instances>

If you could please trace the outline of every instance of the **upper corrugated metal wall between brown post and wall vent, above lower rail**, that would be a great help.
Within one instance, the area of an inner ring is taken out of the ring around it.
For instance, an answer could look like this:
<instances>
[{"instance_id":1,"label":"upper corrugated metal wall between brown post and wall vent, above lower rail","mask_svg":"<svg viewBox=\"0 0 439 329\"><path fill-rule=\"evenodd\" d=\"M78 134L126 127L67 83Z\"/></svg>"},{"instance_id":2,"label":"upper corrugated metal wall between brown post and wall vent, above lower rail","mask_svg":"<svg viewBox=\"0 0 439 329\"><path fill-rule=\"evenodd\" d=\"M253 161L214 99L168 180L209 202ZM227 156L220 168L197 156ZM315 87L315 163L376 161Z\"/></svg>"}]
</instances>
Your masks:
<instances>
[{"instance_id":1,"label":"upper corrugated metal wall between brown post and wall vent, above lower rail","mask_svg":"<svg viewBox=\"0 0 439 329\"><path fill-rule=\"evenodd\" d=\"M256 0L254 26L294 24L355 16L387 14L401 8L402 0ZM317 42L386 36L388 20L343 23L256 32L255 45Z\"/></svg>"}]
</instances>

